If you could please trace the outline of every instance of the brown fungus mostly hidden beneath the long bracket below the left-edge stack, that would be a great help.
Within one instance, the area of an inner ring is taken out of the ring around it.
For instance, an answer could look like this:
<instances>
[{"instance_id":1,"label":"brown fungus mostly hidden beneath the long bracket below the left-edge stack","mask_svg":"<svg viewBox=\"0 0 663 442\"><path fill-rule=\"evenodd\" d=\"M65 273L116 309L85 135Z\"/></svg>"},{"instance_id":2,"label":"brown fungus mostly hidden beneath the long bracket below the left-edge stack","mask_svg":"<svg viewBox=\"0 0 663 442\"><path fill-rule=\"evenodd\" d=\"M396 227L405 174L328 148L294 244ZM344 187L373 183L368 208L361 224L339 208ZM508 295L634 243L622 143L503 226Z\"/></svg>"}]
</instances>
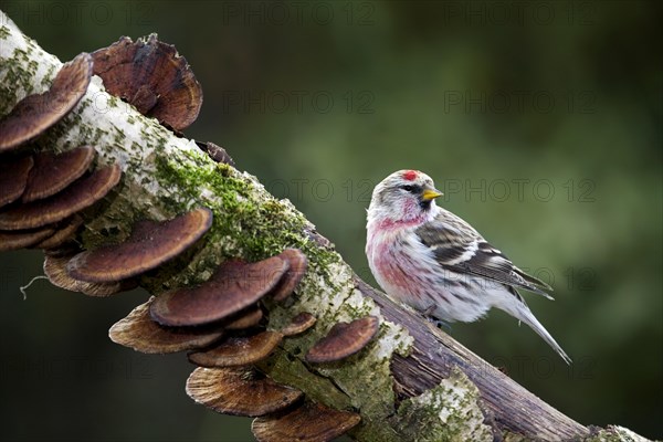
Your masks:
<instances>
[{"instance_id":1,"label":"brown fungus mostly hidden beneath the long bracket below the left-edge stack","mask_svg":"<svg viewBox=\"0 0 663 442\"><path fill-rule=\"evenodd\" d=\"M133 280L116 281L112 283L87 283L85 281L74 280L66 273L66 264L70 260L71 255L44 256L44 274L51 284L71 292L78 292L88 296L98 297L110 296L138 286Z\"/></svg>"}]
</instances>

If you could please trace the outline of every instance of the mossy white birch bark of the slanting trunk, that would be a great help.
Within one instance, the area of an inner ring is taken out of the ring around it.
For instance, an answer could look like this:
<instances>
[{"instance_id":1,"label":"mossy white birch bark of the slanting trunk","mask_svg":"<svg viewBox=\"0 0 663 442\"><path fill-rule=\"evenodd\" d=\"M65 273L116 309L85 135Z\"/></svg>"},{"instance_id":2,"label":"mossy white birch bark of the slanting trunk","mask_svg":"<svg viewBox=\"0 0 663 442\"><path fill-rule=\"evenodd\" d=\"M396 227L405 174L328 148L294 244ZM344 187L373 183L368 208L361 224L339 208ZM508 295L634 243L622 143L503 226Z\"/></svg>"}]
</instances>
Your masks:
<instances>
[{"instance_id":1,"label":"mossy white birch bark of the slanting trunk","mask_svg":"<svg viewBox=\"0 0 663 442\"><path fill-rule=\"evenodd\" d=\"M62 65L1 11L0 63L0 115L24 96L46 90ZM535 408L543 420L525 425L519 423L524 418L517 411L518 398L499 414L501 404L491 403L485 382L481 383L470 367L478 364L485 370L490 367L486 362L360 282L290 201L275 199L255 177L212 161L192 140L177 137L108 95L97 77L74 110L28 148L61 151L81 145L94 146L99 165L115 162L123 169L122 186L103 204L83 213L85 248L123 240L140 219L169 219L201 206L213 211L213 225L198 246L141 278L151 294L204 281L228 257L255 261L285 248L298 248L307 255L308 271L297 296L287 307L269 305L269 327L278 329L304 311L318 320L312 332L288 338L261 369L315 401L361 413L361 425L352 432L357 440L464 441L496 435L561 440L589 435L585 427L543 402ZM377 338L362 351L336 364L311 366L304 361L306 350L335 323L368 314L378 316L381 325ZM455 366L460 368L452 368ZM507 391L529 394L528 401L538 400L506 377L494 379L502 383L493 382L493 388L504 386ZM397 399L402 400L400 407ZM544 428L556 422L564 422L564 430ZM625 433L606 430L604 434L621 438L619 434ZM588 440L603 440L594 438L599 435Z\"/></svg>"}]
</instances>

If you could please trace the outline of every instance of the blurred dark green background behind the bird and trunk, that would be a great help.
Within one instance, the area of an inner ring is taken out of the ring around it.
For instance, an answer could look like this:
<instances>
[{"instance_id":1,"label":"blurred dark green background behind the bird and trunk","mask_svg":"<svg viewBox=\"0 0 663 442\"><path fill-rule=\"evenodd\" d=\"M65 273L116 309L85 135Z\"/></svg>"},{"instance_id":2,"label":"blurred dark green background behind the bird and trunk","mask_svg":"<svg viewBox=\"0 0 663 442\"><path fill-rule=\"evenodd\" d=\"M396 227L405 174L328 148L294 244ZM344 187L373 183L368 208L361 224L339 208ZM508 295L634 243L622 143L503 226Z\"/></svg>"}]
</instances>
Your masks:
<instances>
[{"instance_id":1,"label":"blurred dark green background behind the bird and trunk","mask_svg":"<svg viewBox=\"0 0 663 442\"><path fill-rule=\"evenodd\" d=\"M66 61L157 32L204 92L187 136L290 198L367 281L365 209L418 168L556 302L573 358L494 311L454 338L585 424L663 438L660 2L2 1ZM93 299L0 255L2 439L250 441L196 406L186 358L114 345L147 294Z\"/></svg>"}]
</instances>

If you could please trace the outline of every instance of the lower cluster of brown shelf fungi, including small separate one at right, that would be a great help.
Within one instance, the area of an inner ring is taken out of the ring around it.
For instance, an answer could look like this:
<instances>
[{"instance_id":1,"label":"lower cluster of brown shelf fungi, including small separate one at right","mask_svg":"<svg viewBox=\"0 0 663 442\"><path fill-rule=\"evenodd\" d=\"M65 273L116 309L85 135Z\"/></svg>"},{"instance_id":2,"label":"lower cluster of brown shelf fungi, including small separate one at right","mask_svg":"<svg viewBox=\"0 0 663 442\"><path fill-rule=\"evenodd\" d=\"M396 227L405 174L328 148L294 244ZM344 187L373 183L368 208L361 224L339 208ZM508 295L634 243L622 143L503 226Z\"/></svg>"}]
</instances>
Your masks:
<instances>
[{"instance_id":1,"label":"lower cluster of brown shelf fungi, including small separate one at right","mask_svg":"<svg viewBox=\"0 0 663 442\"><path fill-rule=\"evenodd\" d=\"M315 325L312 314L299 312L286 327L266 329L266 306L284 302L296 290L306 263L296 249L253 263L225 261L204 283L136 307L110 328L110 338L144 352L188 351L198 368L187 380L187 393L217 412L257 418L253 430L259 441L329 441L359 423L359 414L306 400L302 391L277 383L259 368L284 339ZM327 343L319 350L327 355L324 360L358 351L377 330L376 318L355 323L335 328L320 341ZM348 343L350 348L339 348Z\"/></svg>"}]
</instances>

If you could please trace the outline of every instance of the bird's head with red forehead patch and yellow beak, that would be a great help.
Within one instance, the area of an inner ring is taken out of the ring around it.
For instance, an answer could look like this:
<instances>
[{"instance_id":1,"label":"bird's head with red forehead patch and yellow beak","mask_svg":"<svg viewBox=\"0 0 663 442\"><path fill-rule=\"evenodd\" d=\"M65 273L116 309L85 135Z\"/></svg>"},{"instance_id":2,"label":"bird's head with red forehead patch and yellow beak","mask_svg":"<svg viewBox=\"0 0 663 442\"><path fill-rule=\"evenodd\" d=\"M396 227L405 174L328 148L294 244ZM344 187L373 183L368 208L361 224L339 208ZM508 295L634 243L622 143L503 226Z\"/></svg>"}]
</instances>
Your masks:
<instances>
[{"instance_id":1,"label":"bird's head with red forehead patch and yellow beak","mask_svg":"<svg viewBox=\"0 0 663 442\"><path fill-rule=\"evenodd\" d=\"M433 180L418 170L399 170L373 189L368 221L414 224L433 215L434 199L442 194Z\"/></svg>"}]
</instances>

